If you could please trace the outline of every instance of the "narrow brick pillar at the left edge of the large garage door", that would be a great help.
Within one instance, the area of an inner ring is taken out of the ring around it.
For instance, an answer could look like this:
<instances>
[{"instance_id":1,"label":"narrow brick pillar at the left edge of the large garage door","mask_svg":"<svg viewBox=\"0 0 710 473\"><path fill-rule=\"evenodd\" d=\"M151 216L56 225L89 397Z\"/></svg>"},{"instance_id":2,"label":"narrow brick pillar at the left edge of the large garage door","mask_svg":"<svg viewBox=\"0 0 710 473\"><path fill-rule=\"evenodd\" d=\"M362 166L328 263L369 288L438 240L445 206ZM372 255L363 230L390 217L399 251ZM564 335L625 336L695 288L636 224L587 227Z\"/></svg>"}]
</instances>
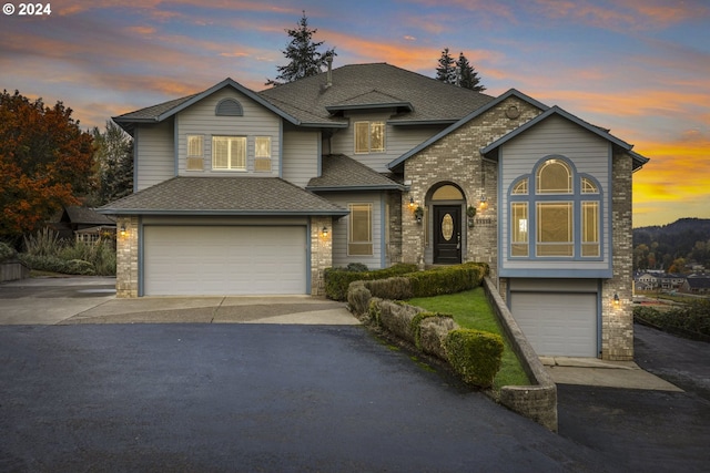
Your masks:
<instances>
[{"instance_id":1,"label":"narrow brick pillar at the left edge of the large garage door","mask_svg":"<svg viewBox=\"0 0 710 473\"><path fill-rule=\"evenodd\" d=\"M125 226L125 235L121 227ZM119 217L115 238L115 296L138 297L138 228L136 216Z\"/></svg>"}]
</instances>

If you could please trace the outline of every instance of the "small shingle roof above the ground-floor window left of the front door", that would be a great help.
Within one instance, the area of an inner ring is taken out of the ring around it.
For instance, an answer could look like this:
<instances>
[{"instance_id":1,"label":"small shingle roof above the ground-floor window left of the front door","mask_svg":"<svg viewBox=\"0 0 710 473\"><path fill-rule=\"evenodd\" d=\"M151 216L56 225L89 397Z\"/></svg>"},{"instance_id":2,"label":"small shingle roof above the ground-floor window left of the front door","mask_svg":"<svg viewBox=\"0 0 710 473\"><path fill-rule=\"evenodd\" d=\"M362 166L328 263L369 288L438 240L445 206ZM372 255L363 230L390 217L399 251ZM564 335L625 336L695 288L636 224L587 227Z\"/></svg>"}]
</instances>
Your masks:
<instances>
[{"instance_id":1,"label":"small shingle roof above the ground-floor window left of the front door","mask_svg":"<svg viewBox=\"0 0 710 473\"><path fill-rule=\"evenodd\" d=\"M323 156L322 168L321 176L312 178L306 186L307 189L315 192L404 189L402 184L344 154Z\"/></svg>"}]
</instances>

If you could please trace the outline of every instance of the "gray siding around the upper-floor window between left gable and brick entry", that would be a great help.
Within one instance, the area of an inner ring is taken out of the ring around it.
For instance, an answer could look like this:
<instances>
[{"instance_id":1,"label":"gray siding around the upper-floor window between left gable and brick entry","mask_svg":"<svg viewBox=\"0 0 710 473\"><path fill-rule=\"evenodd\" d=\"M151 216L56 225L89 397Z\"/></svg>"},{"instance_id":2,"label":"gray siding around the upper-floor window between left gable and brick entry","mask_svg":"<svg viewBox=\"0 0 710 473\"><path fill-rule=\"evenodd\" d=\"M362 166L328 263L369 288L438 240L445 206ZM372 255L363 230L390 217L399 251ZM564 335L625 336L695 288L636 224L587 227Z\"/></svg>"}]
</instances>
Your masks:
<instances>
[{"instance_id":1,"label":"gray siding around the upper-floor window between left gable and brick entry","mask_svg":"<svg viewBox=\"0 0 710 473\"><path fill-rule=\"evenodd\" d=\"M339 130L331 140L333 154L345 154L361 163L372 167L378 173L385 173L389 169L387 164L395 161L413 147L425 142L442 127L439 126L393 126L387 124L385 127L385 152L372 154L355 154L355 122L387 122L392 113L368 113L368 114L349 114L351 126ZM327 153L328 146L324 144L324 152Z\"/></svg>"}]
</instances>

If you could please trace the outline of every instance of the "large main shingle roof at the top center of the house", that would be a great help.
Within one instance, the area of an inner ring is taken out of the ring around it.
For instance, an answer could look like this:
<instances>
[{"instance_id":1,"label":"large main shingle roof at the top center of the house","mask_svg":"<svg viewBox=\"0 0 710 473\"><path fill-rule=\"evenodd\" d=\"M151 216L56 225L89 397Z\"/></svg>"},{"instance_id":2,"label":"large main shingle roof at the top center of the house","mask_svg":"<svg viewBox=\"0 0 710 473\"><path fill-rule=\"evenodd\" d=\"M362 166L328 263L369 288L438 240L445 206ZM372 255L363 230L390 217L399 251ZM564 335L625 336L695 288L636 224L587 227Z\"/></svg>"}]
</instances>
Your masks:
<instances>
[{"instance_id":1,"label":"large main shingle roof at the top center of the house","mask_svg":"<svg viewBox=\"0 0 710 473\"><path fill-rule=\"evenodd\" d=\"M302 125L342 126L337 112L396 107L395 125L454 123L494 100L386 63L351 64L260 92ZM329 82L329 84L328 84Z\"/></svg>"}]
</instances>

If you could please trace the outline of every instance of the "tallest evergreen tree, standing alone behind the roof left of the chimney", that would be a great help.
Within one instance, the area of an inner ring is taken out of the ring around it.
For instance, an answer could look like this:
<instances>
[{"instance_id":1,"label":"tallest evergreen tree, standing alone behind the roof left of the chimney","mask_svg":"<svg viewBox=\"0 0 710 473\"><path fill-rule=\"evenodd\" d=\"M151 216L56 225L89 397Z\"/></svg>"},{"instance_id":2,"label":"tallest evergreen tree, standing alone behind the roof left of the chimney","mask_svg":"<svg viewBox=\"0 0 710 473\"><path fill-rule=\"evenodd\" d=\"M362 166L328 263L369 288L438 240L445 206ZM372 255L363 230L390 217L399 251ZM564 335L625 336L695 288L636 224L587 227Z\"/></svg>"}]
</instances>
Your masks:
<instances>
[{"instance_id":1,"label":"tallest evergreen tree, standing alone behind the roof left of the chimney","mask_svg":"<svg viewBox=\"0 0 710 473\"><path fill-rule=\"evenodd\" d=\"M324 53L318 52L318 48L323 45L323 41L313 41L313 35L318 30L308 28L308 19L306 18L305 11L298 22L298 27L285 31L291 38L291 42L282 52L291 62L286 65L277 65L276 71L278 71L278 75L275 80L268 79L266 85L281 85L298 79L316 75L323 71L327 58L336 55L334 48L326 50Z\"/></svg>"}]
</instances>

